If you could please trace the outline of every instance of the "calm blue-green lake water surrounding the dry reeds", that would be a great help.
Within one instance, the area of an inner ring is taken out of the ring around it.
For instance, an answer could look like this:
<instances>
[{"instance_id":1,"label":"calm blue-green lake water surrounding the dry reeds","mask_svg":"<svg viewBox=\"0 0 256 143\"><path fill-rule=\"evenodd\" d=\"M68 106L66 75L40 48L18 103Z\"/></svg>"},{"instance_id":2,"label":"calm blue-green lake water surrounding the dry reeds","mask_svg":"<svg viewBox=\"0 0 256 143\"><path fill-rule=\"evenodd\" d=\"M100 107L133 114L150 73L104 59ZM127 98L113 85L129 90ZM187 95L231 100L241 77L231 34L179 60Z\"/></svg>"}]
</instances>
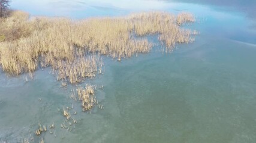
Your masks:
<instances>
[{"instance_id":1,"label":"calm blue-green lake water surrounding the dry reeds","mask_svg":"<svg viewBox=\"0 0 256 143\"><path fill-rule=\"evenodd\" d=\"M50 68L36 71L29 82L25 75L7 77L1 71L0 142L20 142L30 133L34 142L256 142L253 7L245 10L239 1L231 7L186 2L13 1L11 7L32 15L71 18L189 11L198 21L187 27L200 35L171 54L152 51L121 63L104 57L104 74L83 83L104 85L97 89L104 109L95 107L91 114L69 98L75 87L60 88ZM77 123L67 124L68 131L61 128L58 108L72 105ZM38 122L54 122L56 137L49 132L35 136Z\"/></svg>"}]
</instances>

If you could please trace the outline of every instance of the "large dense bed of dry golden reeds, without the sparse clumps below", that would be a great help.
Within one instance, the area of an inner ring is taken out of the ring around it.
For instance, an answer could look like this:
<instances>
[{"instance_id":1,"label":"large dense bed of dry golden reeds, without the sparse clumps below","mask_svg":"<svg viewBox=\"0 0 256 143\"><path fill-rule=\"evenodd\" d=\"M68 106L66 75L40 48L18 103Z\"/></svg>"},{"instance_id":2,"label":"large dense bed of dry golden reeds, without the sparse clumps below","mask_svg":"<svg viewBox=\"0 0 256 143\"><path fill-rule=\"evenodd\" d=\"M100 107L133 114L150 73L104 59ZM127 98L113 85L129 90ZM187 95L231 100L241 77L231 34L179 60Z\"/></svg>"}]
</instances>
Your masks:
<instances>
[{"instance_id":1,"label":"large dense bed of dry golden reeds, without the sparse clumps below","mask_svg":"<svg viewBox=\"0 0 256 143\"><path fill-rule=\"evenodd\" d=\"M150 51L152 43L132 35L159 34L159 41L166 45L162 50L165 52L171 52L176 43L193 42L191 35L197 32L180 26L194 21L189 13L176 16L150 12L71 21L68 18L29 19L28 14L14 11L11 17L1 20L6 38L0 42L0 64L2 70L16 76L52 66L58 80L79 83L85 77L101 73L100 55L121 60Z\"/></svg>"}]
</instances>

